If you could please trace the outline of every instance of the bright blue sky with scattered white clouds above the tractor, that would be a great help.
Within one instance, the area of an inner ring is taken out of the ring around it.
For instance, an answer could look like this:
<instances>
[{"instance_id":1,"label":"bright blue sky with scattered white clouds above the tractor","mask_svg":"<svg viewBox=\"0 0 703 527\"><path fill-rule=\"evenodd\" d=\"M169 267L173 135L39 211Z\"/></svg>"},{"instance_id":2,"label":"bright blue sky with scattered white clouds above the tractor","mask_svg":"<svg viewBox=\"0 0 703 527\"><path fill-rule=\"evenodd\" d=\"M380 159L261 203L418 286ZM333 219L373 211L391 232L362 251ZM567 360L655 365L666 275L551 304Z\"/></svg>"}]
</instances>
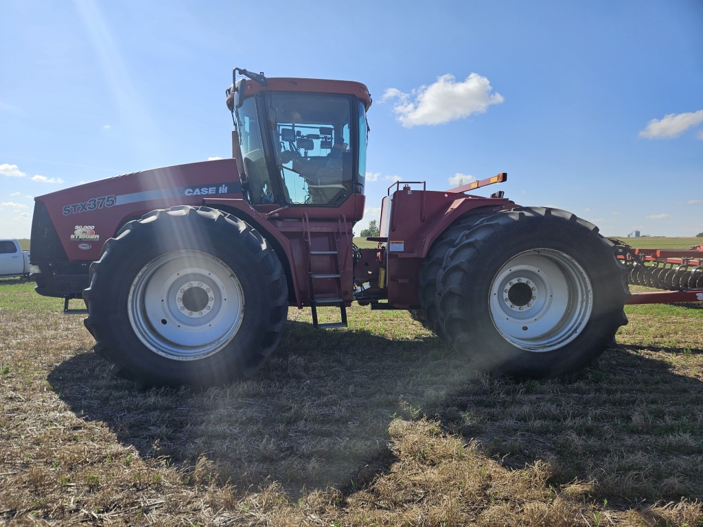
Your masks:
<instances>
[{"instance_id":1,"label":"bright blue sky with scattered white clouds above the tractor","mask_svg":"<svg viewBox=\"0 0 703 527\"><path fill-rule=\"evenodd\" d=\"M231 155L233 67L364 82L367 214L507 171L605 235L703 231L703 1L0 0L0 238L34 196Z\"/></svg>"}]
</instances>

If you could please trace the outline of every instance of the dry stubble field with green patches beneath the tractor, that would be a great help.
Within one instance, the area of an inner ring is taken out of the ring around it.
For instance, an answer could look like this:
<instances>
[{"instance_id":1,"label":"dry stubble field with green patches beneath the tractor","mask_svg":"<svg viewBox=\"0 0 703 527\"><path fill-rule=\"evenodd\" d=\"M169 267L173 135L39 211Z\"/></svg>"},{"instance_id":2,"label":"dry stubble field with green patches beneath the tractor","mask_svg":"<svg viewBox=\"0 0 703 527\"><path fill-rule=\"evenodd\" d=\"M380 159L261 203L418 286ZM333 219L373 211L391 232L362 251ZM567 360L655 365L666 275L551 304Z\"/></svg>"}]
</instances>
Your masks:
<instances>
[{"instance_id":1,"label":"dry stubble field with green patches beneath the tractor","mask_svg":"<svg viewBox=\"0 0 703 527\"><path fill-rule=\"evenodd\" d=\"M544 382L404 311L292 309L254 379L136 391L32 286L0 280L0 523L703 525L703 309L628 307L617 349Z\"/></svg>"}]
</instances>

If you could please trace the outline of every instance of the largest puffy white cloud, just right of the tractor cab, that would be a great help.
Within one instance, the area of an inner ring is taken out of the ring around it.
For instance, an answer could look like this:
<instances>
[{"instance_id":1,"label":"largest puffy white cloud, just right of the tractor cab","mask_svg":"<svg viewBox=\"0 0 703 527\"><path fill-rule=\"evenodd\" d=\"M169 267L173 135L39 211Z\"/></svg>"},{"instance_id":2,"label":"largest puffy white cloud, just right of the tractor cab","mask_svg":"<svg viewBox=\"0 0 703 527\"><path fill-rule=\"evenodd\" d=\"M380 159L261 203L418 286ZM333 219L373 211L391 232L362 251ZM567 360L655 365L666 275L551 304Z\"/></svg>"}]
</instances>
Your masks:
<instances>
[{"instance_id":1,"label":"largest puffy white cloud, just right of the tractor cab","mask_svg":"<svg viewBox=\"0 0 703 527\"><path fill-rule=\"evenodd\" d=\"M491 93L493 87L486 77L472 73L463 82L457 82L452 74L437 77L430 86L420 86L411 93L389 88L383 93L381 102L396 99L393 112L406 128L420 124L443 124L484 113L489 105L502 103L500 93Z\"/></svg>"}]
</instances>

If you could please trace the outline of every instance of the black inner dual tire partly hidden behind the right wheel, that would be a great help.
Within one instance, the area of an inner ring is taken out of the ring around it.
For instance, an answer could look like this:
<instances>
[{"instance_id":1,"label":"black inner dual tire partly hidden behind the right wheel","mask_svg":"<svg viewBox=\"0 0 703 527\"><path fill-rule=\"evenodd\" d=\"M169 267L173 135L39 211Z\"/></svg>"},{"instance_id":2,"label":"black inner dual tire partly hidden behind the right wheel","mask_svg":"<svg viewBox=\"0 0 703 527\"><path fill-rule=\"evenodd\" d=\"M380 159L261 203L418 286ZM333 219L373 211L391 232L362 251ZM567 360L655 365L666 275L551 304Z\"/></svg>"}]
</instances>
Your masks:
<instances>
[{"instance_id":1,"label":"black inner dual tire partly hidden behind the right wheel","mask_svg":"<svg viewBox=\"0 0 703 527\"><path fill-rule=\"evenodd\" d=\"M495 212L490 214L495 214ZM473 214L472 216L461 218L449 226L444 233L439 235L437 240L434 240L432 247L430 247L430 252L427 253L423 265L420 267L418 285L422 309L413 309L410 314L414 320L417 320L441 338L445 338L445 335L439 323L439 315L435 304L437 297L437 273L441 269L447 252L454 246L460 235L470 230L488 215L486 213Z\"/></svg>"}]
</instances>

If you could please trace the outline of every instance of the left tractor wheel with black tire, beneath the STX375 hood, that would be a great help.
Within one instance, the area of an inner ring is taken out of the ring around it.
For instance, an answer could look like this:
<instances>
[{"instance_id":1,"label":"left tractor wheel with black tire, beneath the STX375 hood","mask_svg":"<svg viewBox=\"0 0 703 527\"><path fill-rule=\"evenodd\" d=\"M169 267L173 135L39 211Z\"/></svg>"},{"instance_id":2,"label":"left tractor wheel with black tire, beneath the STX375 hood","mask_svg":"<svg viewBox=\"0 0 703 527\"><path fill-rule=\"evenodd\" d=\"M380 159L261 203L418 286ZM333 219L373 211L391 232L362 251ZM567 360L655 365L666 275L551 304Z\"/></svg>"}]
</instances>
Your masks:
<instances>
[{"instance_id":1,"label":"left tractor wheel with black tire, beneath the STX375 hood","mask_svg":"<svg viewBox=\"0 0 703 527\"><path fill-rule=\"evenodd\" d=\"M127 223L91 265L83 297L94 350L141 386L250 377L288 314L273 249L244 221L207 207Z\"/></svg>"}]
</instances>

